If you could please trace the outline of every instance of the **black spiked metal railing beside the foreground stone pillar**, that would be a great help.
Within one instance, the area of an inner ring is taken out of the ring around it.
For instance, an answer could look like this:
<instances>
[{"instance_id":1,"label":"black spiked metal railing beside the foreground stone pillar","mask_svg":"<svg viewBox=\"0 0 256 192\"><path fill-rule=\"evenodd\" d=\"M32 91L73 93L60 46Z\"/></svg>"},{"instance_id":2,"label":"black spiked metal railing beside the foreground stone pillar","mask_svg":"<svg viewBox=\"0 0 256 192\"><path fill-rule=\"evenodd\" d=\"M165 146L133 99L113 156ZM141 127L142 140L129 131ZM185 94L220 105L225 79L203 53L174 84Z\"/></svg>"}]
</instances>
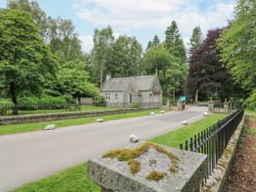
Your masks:
<instances>
[{"instance_id":1,"label":"black spiked metal railing beside the foreground stone pillar","mask_svg":"<svg viewBox=\"0 0 256 192\"><path fill-rule=\"evenodd\" d=\"M197 136L190 137L190 140L186 140L184 145L181 144L181 150L200 152L208 155L208 171L205 182L209 178L209 175L214 172L218 160L226 149L243 115L244 108L242 107L225 119L218 120Z\"/></svg>"}]
</instances>

